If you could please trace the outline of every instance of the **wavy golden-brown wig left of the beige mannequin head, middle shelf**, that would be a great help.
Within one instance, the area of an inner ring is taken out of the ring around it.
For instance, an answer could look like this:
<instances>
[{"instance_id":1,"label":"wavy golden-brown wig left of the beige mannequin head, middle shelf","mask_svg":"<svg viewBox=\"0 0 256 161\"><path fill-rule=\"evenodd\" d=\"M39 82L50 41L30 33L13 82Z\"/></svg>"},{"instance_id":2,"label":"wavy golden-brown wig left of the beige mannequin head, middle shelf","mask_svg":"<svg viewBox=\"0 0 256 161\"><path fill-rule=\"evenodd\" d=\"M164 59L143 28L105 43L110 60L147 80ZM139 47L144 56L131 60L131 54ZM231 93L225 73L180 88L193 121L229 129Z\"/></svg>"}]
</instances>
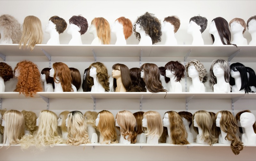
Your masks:
<instances>
[{"instance_id":1,"label":"wavy golden-brown wig left of the beige mannequin head, middle shelf","mask_svg":"<svg viewBox=\"0 0 256 161\"><path fill-rule=\"evenodd\" d=\"M109 81L108 81L109 76L108 76L107 67L103 63L95 62L89 66L89 69L88 69L89 71L92 68L92 66L96 68L96 72L97 72L96 76L97 76L98 82L105 89L105 91L108 92L109 91ZM88 77L87 83L90 85L90 87L92 87L94 85L93 78L91 76Z\"/></svg>"}]
</instances>

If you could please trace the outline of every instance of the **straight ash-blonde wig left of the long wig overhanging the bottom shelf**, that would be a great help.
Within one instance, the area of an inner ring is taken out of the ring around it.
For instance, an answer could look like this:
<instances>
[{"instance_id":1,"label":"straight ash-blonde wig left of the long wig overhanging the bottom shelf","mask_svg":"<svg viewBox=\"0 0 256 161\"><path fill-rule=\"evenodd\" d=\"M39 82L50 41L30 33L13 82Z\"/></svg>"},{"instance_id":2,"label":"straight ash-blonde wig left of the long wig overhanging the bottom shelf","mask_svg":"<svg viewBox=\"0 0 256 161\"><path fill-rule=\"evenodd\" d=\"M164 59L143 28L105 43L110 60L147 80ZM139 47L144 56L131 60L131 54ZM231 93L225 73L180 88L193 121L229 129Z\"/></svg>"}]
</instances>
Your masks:
<instances>
[{"instance_id":1,"label":"straight ash-blonde wig left of the long wig overhanging the bottom shelf","mask_svg":"<svg viewBox=\"0 0 256 161\"><path fill-rule=\"evenodd\" d=\"M212 118L211 114L207 111L200 110L196 111L193 114L193 128L197 134L198 128L194 127L194 119L196 119L197 125L202 129L203 133L201 135L201 140L208 143L212 146L212 144L216 143L218 141L218 138L216 138L211 132L212 132Z\"/></svg>"}]
</instances>

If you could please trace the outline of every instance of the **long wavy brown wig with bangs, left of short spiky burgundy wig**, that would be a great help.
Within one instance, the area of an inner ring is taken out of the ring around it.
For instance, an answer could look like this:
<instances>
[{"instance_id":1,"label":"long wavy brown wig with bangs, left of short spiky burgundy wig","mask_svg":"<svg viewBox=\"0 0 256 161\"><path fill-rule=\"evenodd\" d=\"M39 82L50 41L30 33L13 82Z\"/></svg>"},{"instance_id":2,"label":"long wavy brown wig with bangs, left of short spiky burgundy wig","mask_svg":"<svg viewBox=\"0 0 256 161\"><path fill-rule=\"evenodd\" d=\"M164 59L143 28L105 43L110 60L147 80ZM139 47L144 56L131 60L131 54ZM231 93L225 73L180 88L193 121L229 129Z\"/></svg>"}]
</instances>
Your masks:
<instances>
[{"instance_id":1,"label":"long wavy brown wig with bangs, left of short spiky burgundy wig","mask_svg":"<svg viewBox=\"0 0 256 161\"><path fill-rule=\"evenodd\" d=\"M160 81L160 73L156 64L145 63L140 67L144 71L144 81L149 92L167 92Z\"/></svg>"}]
</instances>

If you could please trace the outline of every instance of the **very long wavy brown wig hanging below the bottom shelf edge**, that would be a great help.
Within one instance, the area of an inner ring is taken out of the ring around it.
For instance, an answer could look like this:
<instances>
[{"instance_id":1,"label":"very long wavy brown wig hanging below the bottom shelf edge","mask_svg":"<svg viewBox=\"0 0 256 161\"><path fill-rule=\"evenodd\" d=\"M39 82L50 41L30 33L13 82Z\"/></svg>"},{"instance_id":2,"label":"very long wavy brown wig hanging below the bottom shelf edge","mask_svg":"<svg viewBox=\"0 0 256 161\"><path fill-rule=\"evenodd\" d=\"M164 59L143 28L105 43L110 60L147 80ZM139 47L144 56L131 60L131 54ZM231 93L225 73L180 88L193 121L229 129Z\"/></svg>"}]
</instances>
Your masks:
<instances>
[{"instance_id":1,"label":"very long wavy brown wig hanging below the bottom shelf edge","mask_svg":"<svg viewBox=\"0 0 256 161\"><path fill-rule=\"evenodd\" d=\"M227 133L225 139L231 141L230 148L235 155L238 155L240 151L244 149L244 145L243 142L241 142L236 135L236 133L238 132L238 125L236 119L230 111L226 110L217 112L215 115L215 119L217 119L219 113L221 114L220 129L224 133Z\"/></svg>"}]
</instances>

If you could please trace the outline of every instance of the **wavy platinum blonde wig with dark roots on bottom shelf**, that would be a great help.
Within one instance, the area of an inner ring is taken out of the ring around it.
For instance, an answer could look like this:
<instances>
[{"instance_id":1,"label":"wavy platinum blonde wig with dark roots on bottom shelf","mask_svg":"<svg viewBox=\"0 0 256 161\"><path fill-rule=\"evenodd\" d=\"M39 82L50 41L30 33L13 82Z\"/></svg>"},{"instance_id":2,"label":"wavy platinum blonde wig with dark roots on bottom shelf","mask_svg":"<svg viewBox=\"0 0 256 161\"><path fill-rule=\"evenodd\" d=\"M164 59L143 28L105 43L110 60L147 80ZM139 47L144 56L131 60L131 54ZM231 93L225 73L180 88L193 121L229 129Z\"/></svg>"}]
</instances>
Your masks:
<instances>
[{"instance_id":1,"label":"wavy platinum blonde wig with dark roots on bottom shelf","mask_svg":"<svg viewBox=\"0 0 256 161\"><path fill-rule=\"evenodd\" d=\"M87 133L87 124L84 115L80 111L71 111L68 114L68 145L80 145L91 143Z\"/></svg>"}]
</instances>

